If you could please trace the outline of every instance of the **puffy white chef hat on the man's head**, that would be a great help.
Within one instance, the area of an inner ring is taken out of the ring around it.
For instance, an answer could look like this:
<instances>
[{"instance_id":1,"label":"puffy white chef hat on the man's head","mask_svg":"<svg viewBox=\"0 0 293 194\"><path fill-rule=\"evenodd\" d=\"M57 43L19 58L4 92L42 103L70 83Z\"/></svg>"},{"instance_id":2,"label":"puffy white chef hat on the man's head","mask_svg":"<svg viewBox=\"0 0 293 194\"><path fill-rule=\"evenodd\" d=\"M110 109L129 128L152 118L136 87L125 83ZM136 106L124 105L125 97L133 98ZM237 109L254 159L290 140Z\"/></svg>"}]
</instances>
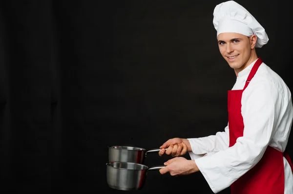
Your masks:
<instances>
[{"instance_id":1,"label":"puffy white chef hat on the man's head","mask_svg":"<svg viewBox=\"0 0 293 194\"><path fill-rule=\"evenodd\" d=\"M233 0L218 4L214 9L213 16L213 25L217 36L227 32L246 36L256 35L255 47L259 48L269 41L265 29L244 7Z\"/></svg>"}]
</instances>

